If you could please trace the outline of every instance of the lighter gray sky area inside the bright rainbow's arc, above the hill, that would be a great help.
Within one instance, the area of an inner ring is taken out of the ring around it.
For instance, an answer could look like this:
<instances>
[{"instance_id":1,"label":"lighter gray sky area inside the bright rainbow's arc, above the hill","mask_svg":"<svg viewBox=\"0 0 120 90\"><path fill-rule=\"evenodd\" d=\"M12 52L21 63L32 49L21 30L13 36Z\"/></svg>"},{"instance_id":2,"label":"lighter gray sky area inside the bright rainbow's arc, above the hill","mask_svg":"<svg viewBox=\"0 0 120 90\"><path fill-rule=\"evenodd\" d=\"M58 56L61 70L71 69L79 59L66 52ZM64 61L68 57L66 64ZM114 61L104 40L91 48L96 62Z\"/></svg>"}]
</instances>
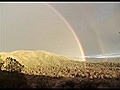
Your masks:
<instances>
[{"instance_id":1,"label":"lighter gray sky area inside the bright rainbow's arc, above the hill","mask_svg":"<svg viewBox=\"0 0 120 90\"><path fill-rule=\"evenodd\" d=\"M1 51L46 50L79 56L70 28L45 4L2 4Z\"/></svg>"}]
</instances>

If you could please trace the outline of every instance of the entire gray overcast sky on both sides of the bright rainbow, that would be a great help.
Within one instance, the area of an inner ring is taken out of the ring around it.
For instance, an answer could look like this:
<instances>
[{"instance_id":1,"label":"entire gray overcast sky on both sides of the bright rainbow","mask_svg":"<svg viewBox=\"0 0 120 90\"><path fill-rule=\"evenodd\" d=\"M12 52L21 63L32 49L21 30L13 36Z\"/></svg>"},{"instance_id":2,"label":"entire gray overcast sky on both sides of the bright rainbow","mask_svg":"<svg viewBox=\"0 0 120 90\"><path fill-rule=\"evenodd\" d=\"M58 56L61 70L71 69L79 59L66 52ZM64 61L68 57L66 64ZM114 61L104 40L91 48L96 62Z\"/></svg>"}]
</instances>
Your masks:
<instances>
[{"instance_id":1,"label":"entire gray overcast sky on both sides of the bright rainbow","mask_svg":"<svg viewBox=\"0 0 120 90\"><path fill-rule=\"evenodd\" d=\"M85 55L120 53L120 3L0 3L0 17L2 52L79 56L71 27Z\"/></svg>"}]
</instances>

